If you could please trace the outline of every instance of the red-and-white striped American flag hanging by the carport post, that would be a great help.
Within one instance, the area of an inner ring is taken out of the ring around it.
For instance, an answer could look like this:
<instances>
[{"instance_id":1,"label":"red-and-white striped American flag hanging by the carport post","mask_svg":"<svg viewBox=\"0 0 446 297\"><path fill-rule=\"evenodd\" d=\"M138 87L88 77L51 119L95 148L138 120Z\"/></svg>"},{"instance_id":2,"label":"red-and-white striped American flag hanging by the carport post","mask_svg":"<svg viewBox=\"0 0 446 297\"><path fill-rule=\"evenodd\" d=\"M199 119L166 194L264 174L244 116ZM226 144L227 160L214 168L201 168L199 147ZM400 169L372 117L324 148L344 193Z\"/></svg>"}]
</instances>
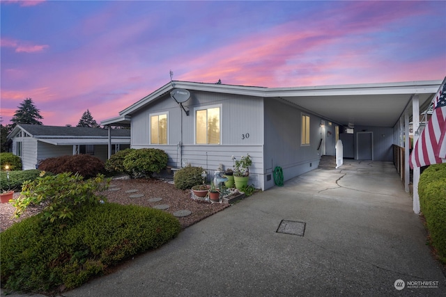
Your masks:
<instances>
[{"instance_id":1,"label":"red-and-white striped American flag hanging by the carport post","mask_svg":"<svg viewBox=\"0 0 446 297\"><path fill-rule=\"evenodd\" d=\"M446 77L433 97L431 120L410 154L410 168L446 163Z\"/></svg>"}]
</instances>

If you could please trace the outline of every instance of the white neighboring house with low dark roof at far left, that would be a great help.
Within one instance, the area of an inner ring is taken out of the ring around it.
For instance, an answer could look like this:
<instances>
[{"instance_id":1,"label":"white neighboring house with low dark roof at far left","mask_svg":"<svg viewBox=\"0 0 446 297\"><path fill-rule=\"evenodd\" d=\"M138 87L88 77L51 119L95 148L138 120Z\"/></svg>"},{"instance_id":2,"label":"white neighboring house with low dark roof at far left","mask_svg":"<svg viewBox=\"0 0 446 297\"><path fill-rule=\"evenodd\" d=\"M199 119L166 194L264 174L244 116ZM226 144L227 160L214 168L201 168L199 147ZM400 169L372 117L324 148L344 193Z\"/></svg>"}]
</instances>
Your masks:
<instances>
[{"instance_id":1,"label":"white neighboring house with low dark roof at far left","mask_svg":"<svg viewBox=\"0 0 446 297\"><path fill-rule=\"evenodd\" d=\"M18 124L8 135L13 154L22 158L22 168L36 169L54 156L91 154L108 159L108 129ZM130 129L111 129L112 153L130 147Z\"/></svg>"}]
</instances>

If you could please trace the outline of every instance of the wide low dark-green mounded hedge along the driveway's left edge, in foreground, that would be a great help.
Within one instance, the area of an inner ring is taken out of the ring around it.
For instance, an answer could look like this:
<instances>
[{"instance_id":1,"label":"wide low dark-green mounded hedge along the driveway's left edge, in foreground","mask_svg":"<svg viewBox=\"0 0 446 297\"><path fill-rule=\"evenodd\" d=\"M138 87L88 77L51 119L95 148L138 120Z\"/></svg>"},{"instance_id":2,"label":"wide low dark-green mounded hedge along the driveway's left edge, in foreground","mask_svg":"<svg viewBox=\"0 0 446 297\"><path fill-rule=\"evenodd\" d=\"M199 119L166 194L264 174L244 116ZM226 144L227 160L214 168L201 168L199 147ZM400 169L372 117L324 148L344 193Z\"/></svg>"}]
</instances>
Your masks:
<instances>
[{"instance_id":1,"label":"wide low dark-green mounded hedge along the driveway's left edge, in foreground","mask_svg":"<svg viewBox=\"0 0 446 297\"><path fill-rule=\"evenodd\" d=\"M26 218L0 233L2 287L59 294L59 288L78 287L180 232L180 223L171 214L135 205L83 207L75 220L54 224L41 216Z\"/></svg>"}]
</instances>

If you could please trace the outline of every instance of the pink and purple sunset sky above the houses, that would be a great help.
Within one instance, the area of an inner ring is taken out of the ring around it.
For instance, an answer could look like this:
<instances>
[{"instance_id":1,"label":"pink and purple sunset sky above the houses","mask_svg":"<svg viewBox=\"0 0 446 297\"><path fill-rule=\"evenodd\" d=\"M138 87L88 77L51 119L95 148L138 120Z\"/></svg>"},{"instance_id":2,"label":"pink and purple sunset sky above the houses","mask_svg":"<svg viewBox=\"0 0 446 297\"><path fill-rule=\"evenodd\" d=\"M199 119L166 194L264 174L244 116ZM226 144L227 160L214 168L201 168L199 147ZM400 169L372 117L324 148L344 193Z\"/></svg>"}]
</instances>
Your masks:
<instances>
[{"instance_id":1,"label":"pink and purple sunset sky above the houses","mask_svg":"<svg viewBox=\"0 0 446 297\"><path fill-rule=\"evenodd\" d=\"M174 80L291 87L440 80L446 1L3 1L1 118L113 118Z\"/></svg>"}]
</instances>

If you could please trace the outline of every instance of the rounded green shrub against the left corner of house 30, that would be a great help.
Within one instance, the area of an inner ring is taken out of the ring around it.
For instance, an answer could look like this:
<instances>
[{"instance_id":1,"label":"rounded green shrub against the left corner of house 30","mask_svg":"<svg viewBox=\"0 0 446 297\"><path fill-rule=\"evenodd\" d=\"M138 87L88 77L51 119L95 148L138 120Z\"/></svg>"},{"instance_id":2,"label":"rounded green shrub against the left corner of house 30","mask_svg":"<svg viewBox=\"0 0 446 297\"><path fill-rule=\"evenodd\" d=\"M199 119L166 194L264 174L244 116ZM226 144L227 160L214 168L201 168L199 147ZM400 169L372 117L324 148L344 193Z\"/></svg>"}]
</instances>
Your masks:
<instances>
[{"instance_id":1,"label":"rounded green shrub against the left corner of house 30","mask_svg":"<svg viewBox=\"0 0 446 297\"><path fill-rule=\"evenodd\" d=\"M153 172L160 173L166 168L169 156L164 150L144 148L132 150L123 161L125 171L132 172L132 177L145 175L152 177Z\"/></svg>"}]
</instances>

